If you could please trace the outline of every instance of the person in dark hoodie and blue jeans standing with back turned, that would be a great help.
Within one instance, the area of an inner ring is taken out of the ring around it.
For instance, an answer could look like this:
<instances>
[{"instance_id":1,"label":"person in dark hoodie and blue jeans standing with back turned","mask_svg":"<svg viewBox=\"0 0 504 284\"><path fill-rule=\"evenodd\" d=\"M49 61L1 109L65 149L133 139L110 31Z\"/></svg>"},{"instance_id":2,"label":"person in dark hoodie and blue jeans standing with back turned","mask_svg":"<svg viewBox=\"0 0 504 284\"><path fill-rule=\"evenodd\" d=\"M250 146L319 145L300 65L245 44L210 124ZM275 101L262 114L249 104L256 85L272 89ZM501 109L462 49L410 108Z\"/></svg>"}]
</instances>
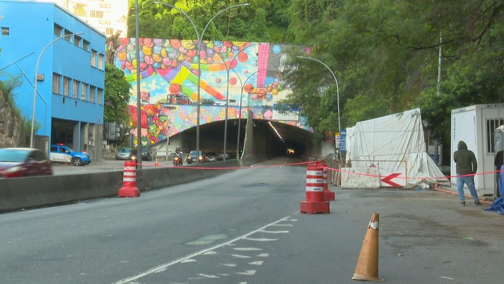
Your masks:
<instances>
[{"instance_id":1,"label":"person in dark hoodie and blue jeans standing with back turned","mask_svg":"<svg viewBox=\"0 0 504 284\"><path fill-rule=\"evenodd\" d=\"M458 198L460 199L460 206L466 205L466 196L464 195L464 184L467 185L471 195L474 199L474 205L481 205L479 202L478 193L474 187L474 175L460 176L475 174L478 169L476 156L471 150L467 150L467 145L464 141L458 141L458 151L453 153L453 160L457 164L457 190Z\"/></svg>"}]
</instances>

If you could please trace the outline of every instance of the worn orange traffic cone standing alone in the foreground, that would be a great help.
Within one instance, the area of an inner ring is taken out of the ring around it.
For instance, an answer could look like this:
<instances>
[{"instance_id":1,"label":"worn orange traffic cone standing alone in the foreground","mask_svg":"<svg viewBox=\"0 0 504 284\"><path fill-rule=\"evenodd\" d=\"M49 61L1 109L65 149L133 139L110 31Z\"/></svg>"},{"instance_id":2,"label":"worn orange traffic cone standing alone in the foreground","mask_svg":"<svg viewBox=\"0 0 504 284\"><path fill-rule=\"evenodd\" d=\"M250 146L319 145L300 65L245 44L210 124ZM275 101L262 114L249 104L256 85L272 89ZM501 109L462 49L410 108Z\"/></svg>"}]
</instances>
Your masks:
<instances>
[{"instance_id":1,"label":"worn orange traffic cone standing alone in the foreground","mask_svg":"<svg viewBox=\"0 0 504 284\"><path fill-rule=\"evenodd\" d=\"M383 281L378 276L378 213L373 213L362 244L353 280Z\"/></svg>"}]
</instances>

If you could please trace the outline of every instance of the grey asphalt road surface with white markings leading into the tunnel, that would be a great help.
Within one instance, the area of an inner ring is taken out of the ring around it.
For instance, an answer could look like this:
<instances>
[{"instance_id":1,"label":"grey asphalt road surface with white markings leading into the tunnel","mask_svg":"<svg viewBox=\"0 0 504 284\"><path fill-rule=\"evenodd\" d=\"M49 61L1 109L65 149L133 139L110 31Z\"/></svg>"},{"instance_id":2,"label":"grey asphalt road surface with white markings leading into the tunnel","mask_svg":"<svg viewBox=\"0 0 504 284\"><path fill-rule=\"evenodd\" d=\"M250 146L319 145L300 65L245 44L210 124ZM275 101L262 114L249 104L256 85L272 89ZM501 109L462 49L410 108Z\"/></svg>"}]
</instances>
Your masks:
<instances>
[{"instance_id":1,"label":"grey asphalt road surface with white markings leading into the tunnel","mask_svg":"<svg viewBox=\"0 0 504 284\"><path fill-rule=\"evenodd\" d=\"M504 217L412 190L335 190L331 214L299 214L305 173L244 169L1 214L0 282L352 283L373 212L387 283L501 282Z\"/></svg>"}]
</instances>

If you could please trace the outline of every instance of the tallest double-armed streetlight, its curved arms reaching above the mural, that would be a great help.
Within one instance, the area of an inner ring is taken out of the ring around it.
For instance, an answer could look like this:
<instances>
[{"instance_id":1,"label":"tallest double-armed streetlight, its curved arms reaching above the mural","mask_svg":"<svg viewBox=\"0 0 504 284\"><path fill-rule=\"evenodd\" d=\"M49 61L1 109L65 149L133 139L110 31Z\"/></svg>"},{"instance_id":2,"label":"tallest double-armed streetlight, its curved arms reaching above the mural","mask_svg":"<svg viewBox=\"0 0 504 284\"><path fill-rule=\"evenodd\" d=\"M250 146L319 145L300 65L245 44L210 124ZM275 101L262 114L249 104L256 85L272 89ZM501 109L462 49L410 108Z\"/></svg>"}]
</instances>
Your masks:
<instances>
[{"instance_id":1,"label":"tallest double-armed streetlight, its curved arms reaching above the mural","mask_svg":"<svg viewBox=\"0 0 504 284\"><path fill-rule=\"evenodd\" d=\"M208 21L208 23L206 23L206 26L203 29L203 32L201 32L201 35L199 35L198 29L196 28L196 25L194 24L193 20L191 19L190 16L188 16L186 13L184 13L184 11L182 11L179 8L177 8L177 7L173 6L173 5L170 5L170 4L166 4L166 3L162 3L162 2L154 2L154 3L171 7L173 9L179 11L180 13L182 13L189 20L189 22L191 23L191 25L193 26L193 28L194 28L194 30L196 32L196 37L198 37L198 86L197 86L198 96L196 97L198 108L197 108L197 112L196 112L197 113L196 114L196 153L197 153L197 155L199 155L199 125L200 125L200 121L199 120L200 120L200 89L201 89L200 88L200 80L201 80L201 44L203 42L203 36L204 36L205 31L208 28L208 26L212 23L212 21L214 21L214 18L216 18L222 12L225 12L225 11L227 11L229 9L241 7L241 6L248 6L250 4L249 3L238 4L238 5L229 6L229 7L225 8L225 9L223 9L223 10L220 10L217 14L215 14L210 19L210 21ZM199 164L199 159L196 160L196 163Z\"/></svg>"}]
</instances>

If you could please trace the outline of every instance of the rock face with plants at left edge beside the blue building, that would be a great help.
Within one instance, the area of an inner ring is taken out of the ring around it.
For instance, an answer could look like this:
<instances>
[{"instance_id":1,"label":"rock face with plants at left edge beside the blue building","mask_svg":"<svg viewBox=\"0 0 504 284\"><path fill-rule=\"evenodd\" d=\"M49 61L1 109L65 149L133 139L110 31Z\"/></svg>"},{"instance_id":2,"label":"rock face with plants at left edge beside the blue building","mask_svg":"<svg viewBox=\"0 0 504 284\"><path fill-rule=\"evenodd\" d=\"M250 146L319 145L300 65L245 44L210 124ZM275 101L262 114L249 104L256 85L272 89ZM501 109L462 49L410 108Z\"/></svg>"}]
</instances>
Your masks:
<instances>
[{"instance_id":1,"label":"rock face with plants at left edge beside the blue building","mask_svg":"<svg viewBox=\"0 0 504 284\"><path fill-rule=\"evenodd\" d=\"M25 146L23 118L16 113L6 97L0 93L0 148Z\"/></svg>"}]
</instances>

